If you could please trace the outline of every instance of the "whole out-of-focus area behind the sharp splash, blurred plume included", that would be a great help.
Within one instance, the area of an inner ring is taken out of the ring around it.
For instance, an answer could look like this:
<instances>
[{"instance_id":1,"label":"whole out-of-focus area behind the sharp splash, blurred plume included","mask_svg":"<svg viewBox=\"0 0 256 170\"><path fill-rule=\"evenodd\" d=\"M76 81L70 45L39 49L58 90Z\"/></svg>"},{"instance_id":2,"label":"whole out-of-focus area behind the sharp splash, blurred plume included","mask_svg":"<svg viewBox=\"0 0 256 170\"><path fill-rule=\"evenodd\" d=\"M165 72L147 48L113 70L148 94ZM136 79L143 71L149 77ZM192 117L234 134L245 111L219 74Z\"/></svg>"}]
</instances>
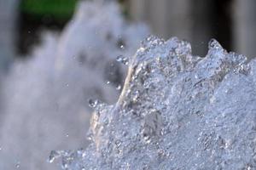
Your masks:
<instances>
[{"instance_id":1,"label":"whole out-of-focus area behind the sharp splash, blurred plume included","mask_svg":"<svg viewBox=\"0 0 256 170\"><path fill-rule=\"evenodd\" d=\"M86 147L90 107L117 100L127 58L150 34L188 40L200 56L215 38L253 59L255 8L253 0L0 0L0 169L56 169L50 150Z\"/></svg>"}]
</instances>

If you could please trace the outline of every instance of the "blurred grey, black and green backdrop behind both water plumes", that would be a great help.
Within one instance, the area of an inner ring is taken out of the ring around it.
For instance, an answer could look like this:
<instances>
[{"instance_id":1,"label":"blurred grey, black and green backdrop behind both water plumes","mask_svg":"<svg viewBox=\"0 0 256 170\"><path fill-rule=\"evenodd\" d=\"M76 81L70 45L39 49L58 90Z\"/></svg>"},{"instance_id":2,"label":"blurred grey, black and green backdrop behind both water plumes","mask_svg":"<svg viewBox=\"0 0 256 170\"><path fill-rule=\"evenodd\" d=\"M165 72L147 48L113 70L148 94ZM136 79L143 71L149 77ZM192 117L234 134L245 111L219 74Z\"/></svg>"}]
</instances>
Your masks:
<instances>
[{"instance_id":1,"label":"blurred grey, black and green backdrop behind both water plumes","mask_svg":"<svg viewBox=\"0 0 256 170\"><path fill-rule=\"evenodd\" d=\"M61 31L78 0L0 1L1 65L11 56L26 54L40 42L40 31ZM125 17L145 21L153 33L179 37L193 44L194 53L207 52L214 37L228 50L253 57L255 2L253 0L119 0Z\"/></svg>"}]
</instances>

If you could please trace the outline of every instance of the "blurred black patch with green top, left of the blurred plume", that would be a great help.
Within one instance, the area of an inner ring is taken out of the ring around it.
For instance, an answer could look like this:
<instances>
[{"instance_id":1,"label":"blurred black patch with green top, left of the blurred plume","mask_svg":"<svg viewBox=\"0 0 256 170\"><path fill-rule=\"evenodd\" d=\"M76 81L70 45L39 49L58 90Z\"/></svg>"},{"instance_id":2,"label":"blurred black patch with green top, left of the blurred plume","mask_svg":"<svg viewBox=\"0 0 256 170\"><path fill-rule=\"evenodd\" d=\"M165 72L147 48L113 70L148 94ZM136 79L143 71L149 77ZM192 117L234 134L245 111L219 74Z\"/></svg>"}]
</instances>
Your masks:
<instances>
[{"instance_id":1,"label":"blurred black patch with green top, left of the blurred plume","mask_svg":"<svg viewBox=\"0 0 256 170\"><path fill-rule=\"evenodd\" d=\"M22 0L20 3L20 54L39 42L44 29L60 31L71 19L77 0Z\"/></svg>"}]
</instances>

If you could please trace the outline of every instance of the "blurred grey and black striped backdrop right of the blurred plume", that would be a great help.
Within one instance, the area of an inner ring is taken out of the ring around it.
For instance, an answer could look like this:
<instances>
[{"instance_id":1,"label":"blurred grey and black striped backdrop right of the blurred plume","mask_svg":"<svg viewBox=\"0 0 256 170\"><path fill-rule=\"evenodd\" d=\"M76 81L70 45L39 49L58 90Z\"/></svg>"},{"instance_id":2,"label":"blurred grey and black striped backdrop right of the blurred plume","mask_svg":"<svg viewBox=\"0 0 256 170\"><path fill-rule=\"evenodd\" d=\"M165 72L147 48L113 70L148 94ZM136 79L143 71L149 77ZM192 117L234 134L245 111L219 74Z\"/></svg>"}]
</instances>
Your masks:
<instances>
[{"instance_id":1,"label":"blurred grey and black striped backdrop right of the blurred plume","mask_svg":"<svg viewBox=\"0 0 256 170\"><path fill-rule=\"evenodd\" d=\"M192 43L194 54L206 54L207 42L216 38L224 48L255 56L253 0L131 0L133 19L146 20L161 37L180 37Z\"/></svg>"}]
</instances>

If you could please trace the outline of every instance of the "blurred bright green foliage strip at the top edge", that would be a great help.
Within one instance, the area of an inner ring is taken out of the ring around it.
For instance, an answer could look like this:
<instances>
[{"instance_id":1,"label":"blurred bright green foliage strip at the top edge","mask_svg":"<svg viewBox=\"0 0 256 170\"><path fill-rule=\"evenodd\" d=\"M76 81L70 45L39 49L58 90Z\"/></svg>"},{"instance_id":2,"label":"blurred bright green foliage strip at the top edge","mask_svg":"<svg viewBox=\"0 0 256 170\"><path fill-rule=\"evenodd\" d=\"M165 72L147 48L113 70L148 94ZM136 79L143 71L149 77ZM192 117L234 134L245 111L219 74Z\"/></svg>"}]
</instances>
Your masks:
<instances>
[{"instance_id":1,"label":"blurred bright green foliage strip at the top edge","mask_svg":"<svg viewBox=\"0 0 256 170\"><path fill-rule=\"evenodd\" d=\"M67 20L73 15L78 0L23 0L20 9L23 14L34 17L51 15L56 20Z\"/></svg>"}]
</instances>

